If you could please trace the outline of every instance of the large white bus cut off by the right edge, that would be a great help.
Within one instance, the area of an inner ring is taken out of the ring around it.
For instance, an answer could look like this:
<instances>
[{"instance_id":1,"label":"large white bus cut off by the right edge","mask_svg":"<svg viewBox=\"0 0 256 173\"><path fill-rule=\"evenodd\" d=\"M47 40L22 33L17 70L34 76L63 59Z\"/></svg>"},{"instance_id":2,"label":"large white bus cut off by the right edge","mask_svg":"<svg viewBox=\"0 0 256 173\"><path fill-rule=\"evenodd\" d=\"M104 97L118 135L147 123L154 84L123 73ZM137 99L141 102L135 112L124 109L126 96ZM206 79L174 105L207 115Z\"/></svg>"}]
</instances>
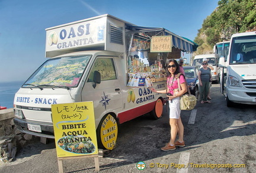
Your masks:
<instances>
[{"instance_id":1,"label":"large white bus cut off by the right edge","mask_svg":"<svg viewBox=\"0 0 256 173\"><path fill-rule=\"evenodd\" d=\"M222 66L222 70L225 68L226 77L221 76L220 87L227 106L233 103L256 105L255 31L232 35L226 66Z\"/></svg>"}]
</instances>

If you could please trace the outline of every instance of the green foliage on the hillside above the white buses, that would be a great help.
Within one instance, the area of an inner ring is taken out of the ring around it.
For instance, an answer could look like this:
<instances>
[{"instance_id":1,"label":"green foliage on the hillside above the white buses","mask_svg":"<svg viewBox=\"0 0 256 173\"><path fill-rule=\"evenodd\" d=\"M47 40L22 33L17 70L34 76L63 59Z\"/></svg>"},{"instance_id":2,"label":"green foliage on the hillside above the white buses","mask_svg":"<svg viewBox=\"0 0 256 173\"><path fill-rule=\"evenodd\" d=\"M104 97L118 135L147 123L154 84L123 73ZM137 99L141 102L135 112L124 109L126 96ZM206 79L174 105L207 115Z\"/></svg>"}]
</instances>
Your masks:
<instances>
[{"instance_id":1,"label":"green foliage on the hillside above the white buses","mask_svg":"<svg viewBox=\"0 0 256 173\"><path fill-rule=\"evenodd\" d=\"M212 47L230 40L236 32L256 29L255 0L220 0L215 11L204 19L194 42Z\"/></svg>"}]
</instances>

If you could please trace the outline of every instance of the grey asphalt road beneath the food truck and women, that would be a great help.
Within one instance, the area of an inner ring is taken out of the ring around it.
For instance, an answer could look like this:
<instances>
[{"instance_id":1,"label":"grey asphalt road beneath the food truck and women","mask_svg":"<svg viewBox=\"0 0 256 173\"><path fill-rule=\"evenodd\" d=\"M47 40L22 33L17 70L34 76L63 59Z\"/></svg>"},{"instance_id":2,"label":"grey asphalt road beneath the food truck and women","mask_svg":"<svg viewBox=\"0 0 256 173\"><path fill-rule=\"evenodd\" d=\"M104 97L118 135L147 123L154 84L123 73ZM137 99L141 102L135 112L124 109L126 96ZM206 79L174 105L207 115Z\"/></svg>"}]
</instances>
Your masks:
<instances>
[{"instance_id":1,"label":"grey asphalt road beneath the food truck and women","mask_svg":"<svg viewBox=\"0 0 256 173\"><path fill-rule=\"evenodd\" d=\"M100 158L100 172L256 172L255 106L226 107L219 84L213 84L211 97L211 104L197 102L194 110L181 112L186 146L175 151L161 151L170 134L166 107L161 119L144 115L120 125L116 148ZM140 161L143 171L136 167ZM94 172L94 159L65 160L63 170ZM0 172L58 171L54 141L37 140L0 167Z\"/></svg>"}]
</instances>

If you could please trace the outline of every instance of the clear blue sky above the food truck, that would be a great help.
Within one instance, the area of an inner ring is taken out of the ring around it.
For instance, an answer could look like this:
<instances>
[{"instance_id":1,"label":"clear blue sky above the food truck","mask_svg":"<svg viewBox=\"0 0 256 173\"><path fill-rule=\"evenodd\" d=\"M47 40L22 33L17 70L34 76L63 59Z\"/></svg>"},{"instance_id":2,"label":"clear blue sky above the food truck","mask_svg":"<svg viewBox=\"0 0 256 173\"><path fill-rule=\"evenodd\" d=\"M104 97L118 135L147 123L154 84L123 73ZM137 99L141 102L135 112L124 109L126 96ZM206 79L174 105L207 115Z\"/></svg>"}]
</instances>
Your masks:
<instances>
[{"instance_id":1,"label":"clear blue sky above the food truck","mask_svg":"<svg viewBox=\"0 0 256 173\"><path fill-rule=\"evenodd\" d=\"M0 82L25 81L47 60L46 28L110 14L194 40L219 0L0 0Z\"/></svg>"}]
</instances>

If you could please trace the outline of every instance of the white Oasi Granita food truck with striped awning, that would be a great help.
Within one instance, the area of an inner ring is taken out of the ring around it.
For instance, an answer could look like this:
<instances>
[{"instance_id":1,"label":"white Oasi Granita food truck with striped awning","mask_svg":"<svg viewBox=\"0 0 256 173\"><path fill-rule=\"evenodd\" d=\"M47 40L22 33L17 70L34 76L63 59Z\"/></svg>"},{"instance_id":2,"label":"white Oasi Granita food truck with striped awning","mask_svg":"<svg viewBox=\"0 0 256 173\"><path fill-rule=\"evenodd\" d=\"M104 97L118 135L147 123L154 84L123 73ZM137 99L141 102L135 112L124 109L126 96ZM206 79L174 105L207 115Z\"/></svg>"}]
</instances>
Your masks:
<instances>
[{"instance_id":1,"label":"white Oasi Granita food truck with striped awning","mask_svg":"<svg viewBox=\"0 0 256 173\"><path fill-rule=\"evenodd\" d=\"M164 28L108 14L47 28L49 59L15 94L14 123L22 132L54 138L52 104L92 101L98 146L111 150L119 124L146 113L162 116L165 94L149 87L166 89L165 61L194 45Z\"/></svg>"}]
</instances>

